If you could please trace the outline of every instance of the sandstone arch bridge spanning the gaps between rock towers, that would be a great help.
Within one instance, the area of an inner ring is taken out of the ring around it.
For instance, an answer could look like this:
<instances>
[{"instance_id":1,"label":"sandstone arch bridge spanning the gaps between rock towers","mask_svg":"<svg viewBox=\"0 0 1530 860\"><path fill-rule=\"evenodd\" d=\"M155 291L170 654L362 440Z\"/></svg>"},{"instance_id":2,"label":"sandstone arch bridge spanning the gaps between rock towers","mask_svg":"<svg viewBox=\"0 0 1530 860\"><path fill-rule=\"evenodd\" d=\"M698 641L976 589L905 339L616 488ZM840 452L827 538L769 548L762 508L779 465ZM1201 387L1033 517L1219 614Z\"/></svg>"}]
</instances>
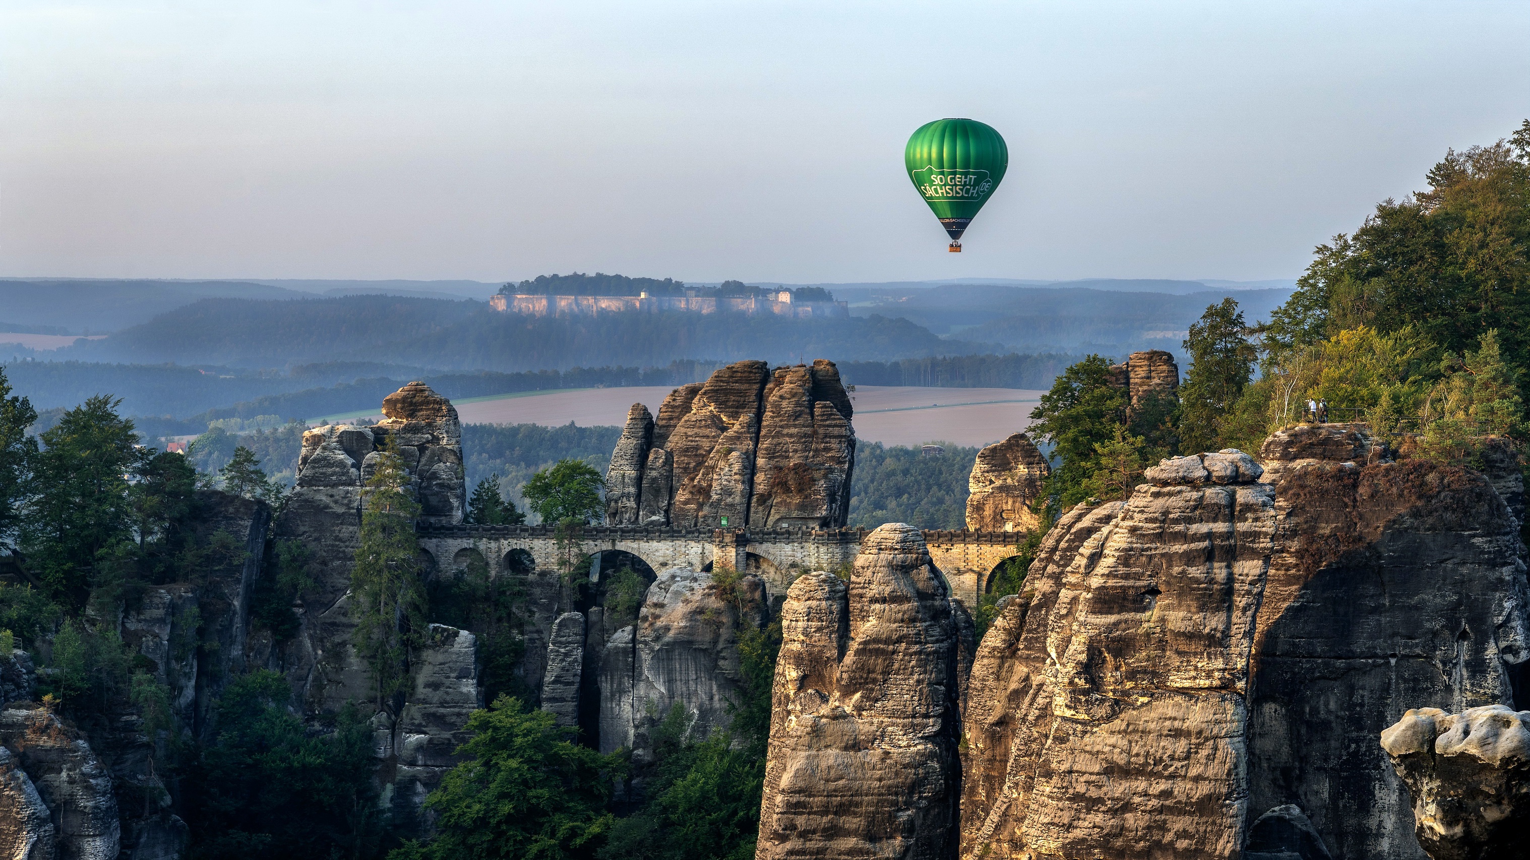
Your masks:
<instances>
[{"instance_id":1,"label":"sandstone arch bridge spanning the gaps between rock towers","mask_svg":"<svg viewBox=\"0 0 1530 860\"><path fill-rule=\"evenodd\" d=\"M636 555L655 572L675 566L695 571L725 562L765 580L773 597L808 571L832 571L860 552L864 528L771 529L586 526L580 551L621 551ZM1016 555L1024 533L926 531L930 560L946 577L952 595L976 608L994 569ZM557 537L545 525L421 525L419 543L438 568L462 565L462 554L479 552L497 572L554 572ZM529 559L528 559L529 555ZM598 569L598 568L597 568Z\"/></svg>"}]
</instances>

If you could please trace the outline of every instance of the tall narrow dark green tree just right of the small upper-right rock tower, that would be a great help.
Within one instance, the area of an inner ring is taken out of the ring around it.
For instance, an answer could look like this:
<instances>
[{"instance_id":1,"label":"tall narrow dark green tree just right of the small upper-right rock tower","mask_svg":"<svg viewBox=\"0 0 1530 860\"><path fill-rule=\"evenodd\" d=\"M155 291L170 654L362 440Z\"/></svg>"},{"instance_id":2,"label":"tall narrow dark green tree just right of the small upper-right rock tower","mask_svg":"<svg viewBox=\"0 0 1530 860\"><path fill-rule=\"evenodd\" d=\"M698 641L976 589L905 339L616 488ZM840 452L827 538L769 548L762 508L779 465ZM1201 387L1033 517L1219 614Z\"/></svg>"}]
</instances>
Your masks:
<instances>
[{"instance_id":1,"label":"tall narrow dark green tree just right of the small upper-right rock tower","mask_svg":"<svg viewBox=\"0 0 1530 860\"><path fill-rule=\"evenodd\" d=\"M1229 433L1227 416L1235 412L1244 387L1253 378L1259 358L1248 340L1250 329L1232 297L1206 308L1190 326L1184 349L1190 370L1180 386L1180 438L1187 451L1216 451Z\"/></svg>"}]
</instances>

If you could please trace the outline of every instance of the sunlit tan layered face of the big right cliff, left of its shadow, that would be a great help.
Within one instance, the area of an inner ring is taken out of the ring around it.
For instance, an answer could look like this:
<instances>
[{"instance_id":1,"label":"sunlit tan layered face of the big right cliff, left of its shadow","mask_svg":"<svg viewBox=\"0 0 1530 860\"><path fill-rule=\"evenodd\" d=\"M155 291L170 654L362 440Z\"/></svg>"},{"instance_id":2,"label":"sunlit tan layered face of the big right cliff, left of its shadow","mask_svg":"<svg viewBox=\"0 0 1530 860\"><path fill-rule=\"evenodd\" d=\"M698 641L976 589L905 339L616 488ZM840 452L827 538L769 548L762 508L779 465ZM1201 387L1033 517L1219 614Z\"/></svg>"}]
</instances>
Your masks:
<instances>
[{"instance_id":1,"label":"sunlit tan layered face of the big right cliff, left of its shadow","mask_svg":"<svg viewBox=\"0 0 1530 860\"><path fill-rule=\"evenodd\" d=\"M973 664L962 857L1238 855L1276 533L1273 488L1238 456L1253 468L1183 458L1047 536Z\"/></svg>"}]
</instances>

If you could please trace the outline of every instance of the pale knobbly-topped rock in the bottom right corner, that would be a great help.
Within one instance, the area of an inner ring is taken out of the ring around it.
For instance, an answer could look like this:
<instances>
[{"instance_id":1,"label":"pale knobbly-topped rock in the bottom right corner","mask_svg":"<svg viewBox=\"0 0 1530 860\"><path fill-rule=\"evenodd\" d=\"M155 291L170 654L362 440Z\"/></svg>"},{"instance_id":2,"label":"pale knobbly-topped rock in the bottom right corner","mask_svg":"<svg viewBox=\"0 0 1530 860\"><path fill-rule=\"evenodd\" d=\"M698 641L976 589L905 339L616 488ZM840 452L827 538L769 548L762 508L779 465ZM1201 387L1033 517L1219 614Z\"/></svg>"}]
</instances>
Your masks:
<instances>
[{"instance_id":1,"label":"pale knobbly-topped rock in the bottom right corner","mask_svg":"<svg viewBox=\"0 0 1530 860\"><path fill-rule=\"evenodd\" d=\"M1409 710L1382 731L1382 748L1412 794L1432 860L1530 857L1530 712Z\"/></svg>"}]
</instances>

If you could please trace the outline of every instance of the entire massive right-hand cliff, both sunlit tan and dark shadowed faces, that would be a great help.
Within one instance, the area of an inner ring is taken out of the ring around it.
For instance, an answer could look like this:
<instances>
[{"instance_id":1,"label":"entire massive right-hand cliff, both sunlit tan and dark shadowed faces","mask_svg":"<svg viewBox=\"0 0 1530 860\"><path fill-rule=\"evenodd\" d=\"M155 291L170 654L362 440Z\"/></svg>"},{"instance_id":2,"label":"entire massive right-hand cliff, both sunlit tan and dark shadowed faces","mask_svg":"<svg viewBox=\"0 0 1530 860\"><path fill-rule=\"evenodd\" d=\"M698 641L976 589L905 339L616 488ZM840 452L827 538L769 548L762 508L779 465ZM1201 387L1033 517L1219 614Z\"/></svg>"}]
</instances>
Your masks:
<instances>
[{"instance_id":1,"label":"entire massive right-hand cliff, both sunlit tan and dark shadowed faces","mask_svg":"<svg viewBox=\"0 0 1530 860\"><path fill-rule=\"evenodd\" d=\"M978 647L961 855L1421 858L1354 738L1512 702L1530 600L1492 482L1383 454L1299 427L1068 511Z\"/></svg>"}]
</instances>

